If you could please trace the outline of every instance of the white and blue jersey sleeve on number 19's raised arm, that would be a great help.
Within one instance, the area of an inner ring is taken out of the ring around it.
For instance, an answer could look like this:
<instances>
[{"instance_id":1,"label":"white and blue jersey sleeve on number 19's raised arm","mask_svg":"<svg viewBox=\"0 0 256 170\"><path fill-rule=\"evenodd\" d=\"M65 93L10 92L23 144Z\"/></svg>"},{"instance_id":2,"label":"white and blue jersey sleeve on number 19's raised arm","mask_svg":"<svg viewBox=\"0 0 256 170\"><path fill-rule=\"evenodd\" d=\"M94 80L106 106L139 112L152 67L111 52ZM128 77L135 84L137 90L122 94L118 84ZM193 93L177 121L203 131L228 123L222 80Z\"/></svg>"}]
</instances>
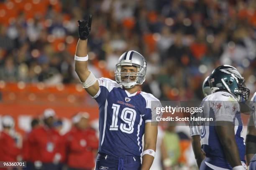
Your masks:
<instances>
[{"instance_id":1,"label":"white and blue jersey sleeve on number 19's raised arm","mask_svg":"<svg viewBox=\"0 0 256 170\"><path fill-rule=\"evenodd\" d=\"M105 103L108 94L114 87L121 87L117 82L110 80L109 78L101 77L97 79L100 85L100 89L93 98L98 104Z\"/></svg>"}]
</instances>

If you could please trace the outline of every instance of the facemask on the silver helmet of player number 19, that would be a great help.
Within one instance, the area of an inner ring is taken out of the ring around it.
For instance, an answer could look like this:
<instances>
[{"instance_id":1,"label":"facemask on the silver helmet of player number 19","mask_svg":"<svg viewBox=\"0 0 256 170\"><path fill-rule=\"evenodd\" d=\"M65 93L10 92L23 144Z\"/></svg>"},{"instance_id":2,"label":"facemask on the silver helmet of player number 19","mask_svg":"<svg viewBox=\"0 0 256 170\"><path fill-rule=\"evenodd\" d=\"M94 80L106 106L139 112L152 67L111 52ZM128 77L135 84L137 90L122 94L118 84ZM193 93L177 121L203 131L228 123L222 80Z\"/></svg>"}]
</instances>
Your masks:
<instances>
[{"instance_id":1,"label":"facemask on the silver helmet of player number 19","mask_svg":"<svg viewBox=\"0 0 256 170\"><path fill-rule=\"evenodd\" d=\"M122 72L123 67L136 67L137 72ZM115 65L115 80L125 88L141 85L145 81L146 68L132 62L122 61Z\"/></svg>"}]
</instances>

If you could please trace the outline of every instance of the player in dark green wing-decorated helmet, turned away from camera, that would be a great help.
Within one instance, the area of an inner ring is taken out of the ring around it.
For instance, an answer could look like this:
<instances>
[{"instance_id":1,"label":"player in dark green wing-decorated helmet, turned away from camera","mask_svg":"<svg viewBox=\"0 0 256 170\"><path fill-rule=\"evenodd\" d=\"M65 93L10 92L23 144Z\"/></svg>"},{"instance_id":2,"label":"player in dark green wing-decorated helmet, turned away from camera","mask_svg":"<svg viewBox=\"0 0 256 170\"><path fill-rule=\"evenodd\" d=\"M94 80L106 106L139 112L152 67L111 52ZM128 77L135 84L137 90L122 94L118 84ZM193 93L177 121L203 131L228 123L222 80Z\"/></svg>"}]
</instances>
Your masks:
<instances>
[{"instance_id":1,"label":"player in dark green wing-decorated helmet, turned away from camera","mask_svg":"<svg viewBox=\"0 0 256 170\"><path fill-rule=\"evenodd\" d=\"M214 121L200 126L201 148L206 155L200 170L244 170L243 122L238 102L248 100L250 90L238 70L230 65L215 68L209 83L212 94L202 101L202 115Z\"/></svg>"}]
</instances>

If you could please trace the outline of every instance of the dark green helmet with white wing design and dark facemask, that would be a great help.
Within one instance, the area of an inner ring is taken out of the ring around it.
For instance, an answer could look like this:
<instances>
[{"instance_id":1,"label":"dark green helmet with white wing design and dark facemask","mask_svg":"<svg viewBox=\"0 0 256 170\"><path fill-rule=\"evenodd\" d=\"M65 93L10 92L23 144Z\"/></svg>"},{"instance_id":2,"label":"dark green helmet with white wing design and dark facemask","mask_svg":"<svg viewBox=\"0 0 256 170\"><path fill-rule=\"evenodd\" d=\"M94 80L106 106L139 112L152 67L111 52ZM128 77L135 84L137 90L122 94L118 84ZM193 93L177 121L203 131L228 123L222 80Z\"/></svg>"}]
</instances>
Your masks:
<instances>
[{"instance_id":1,"label":"dark green helmet with white wing design and dark facemask","mask_svg":"<svg viewBox=\"0 0 256 170\"><path fill-rule=\"evenodd\" d=\"M238 102L248 100L250 90L238 70L230 65L221 65L212 71L209 77L212 92L224 89L233 94Z\"/></svg>"}]
</instances>

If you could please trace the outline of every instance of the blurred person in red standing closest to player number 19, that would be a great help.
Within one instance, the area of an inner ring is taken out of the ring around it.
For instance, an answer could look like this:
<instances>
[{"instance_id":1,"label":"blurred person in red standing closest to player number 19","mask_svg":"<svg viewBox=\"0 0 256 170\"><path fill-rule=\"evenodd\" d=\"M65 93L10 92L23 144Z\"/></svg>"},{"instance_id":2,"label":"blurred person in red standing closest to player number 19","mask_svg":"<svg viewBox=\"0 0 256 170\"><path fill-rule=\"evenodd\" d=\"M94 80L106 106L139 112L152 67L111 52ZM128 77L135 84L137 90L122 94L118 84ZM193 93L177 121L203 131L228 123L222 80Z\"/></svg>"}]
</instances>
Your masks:
<instances>
[{"instance_id":1,"label":"blurred person in red standing closest to player number 19","mask_svg":"<svg viewBox=\"0 0 256 170\"><path fill-rule=\"evenodd\" d=\"M79 112L72 118L74 127L66 135L69 170L92 170L95 166L99 141L88 119L87 112Z\"/></svg>"}]
</instances>

